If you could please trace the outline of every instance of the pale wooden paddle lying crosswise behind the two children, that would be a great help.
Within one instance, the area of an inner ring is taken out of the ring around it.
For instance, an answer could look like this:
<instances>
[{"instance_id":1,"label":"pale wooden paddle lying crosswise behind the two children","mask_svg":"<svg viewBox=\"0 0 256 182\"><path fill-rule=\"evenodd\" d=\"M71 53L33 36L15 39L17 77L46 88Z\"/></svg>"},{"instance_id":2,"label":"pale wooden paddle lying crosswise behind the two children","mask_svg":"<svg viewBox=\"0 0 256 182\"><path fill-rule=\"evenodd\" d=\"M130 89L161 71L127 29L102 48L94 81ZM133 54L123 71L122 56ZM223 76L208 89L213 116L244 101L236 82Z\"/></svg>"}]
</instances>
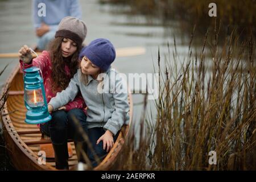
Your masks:
<instances>
[{"instance_id":1,"label":"pale wooden paddle lying crosswise behind the two children","mask_svg":"<svg viewBox=\"0 0 256 182\"><path fill-rule=\"evenodd\" d=\"M146 52L144 47L126 47L118 48L115 50L117 57L126 57L126 56L138 56L143 55ZM41 52L36 52L40 55ZM18 58L18 52L16 53L0 53L0 58Z\"/></svg>"}]
</instances>

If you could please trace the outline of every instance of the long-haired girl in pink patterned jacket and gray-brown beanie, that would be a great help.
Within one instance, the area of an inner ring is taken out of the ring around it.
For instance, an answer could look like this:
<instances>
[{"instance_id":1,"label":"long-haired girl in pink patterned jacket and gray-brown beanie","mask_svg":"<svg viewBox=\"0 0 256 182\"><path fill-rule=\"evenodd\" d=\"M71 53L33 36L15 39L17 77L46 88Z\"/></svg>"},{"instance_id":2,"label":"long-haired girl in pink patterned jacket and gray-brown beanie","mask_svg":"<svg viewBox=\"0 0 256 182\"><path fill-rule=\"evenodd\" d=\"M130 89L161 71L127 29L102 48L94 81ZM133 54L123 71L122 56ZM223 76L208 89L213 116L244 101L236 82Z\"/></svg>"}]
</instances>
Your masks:
<instances>
[{"instance_id":1,"label":"long-haired girl in pink patterned jacket and gray-brown beanie","mask_svg":"<svg viewBox=\"0 0 256 182\"><path fill-rule=\"evenodd\" d=\"M55 39L49 45L49 51L32 59L30 48L24 45L19 50L20 68L38 67L42 71L47 103L57 92L67 88L69 81L77 72L79 66L79 53L85 39L87 28L80 19L66 16L59 24ZM86 151L85 141L76 131L73 116L80 122L82 129L87 132L85 102L81 93L75 100L51 113L52 119L40 124L42 133L51 137L55 151L57 169L68 169L67 140L73 139L75 146L83 146ZM78 159L81 160L78 156Z\"/></svg>"}]
</instances>

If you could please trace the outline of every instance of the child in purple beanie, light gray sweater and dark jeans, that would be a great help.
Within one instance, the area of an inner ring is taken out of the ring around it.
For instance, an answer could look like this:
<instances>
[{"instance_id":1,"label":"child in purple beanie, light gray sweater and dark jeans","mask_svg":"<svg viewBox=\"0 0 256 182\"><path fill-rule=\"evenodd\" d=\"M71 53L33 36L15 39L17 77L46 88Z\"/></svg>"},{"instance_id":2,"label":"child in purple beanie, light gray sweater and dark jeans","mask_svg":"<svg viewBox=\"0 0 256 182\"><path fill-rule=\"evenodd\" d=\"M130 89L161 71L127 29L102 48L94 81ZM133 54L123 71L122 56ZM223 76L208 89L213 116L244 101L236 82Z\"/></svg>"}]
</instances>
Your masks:
<instances>
[{"instance_id":1,"label":"child in purple beanie, light gray sweater and dark jeans","mask_svg":"<svg viewBox=\"0 0 256 182\"><path fill-rule=\"evenodd\" d=\"M51 99L48 110L63 108L80 90L88 107L88 137L94 152L103 159L113 147L122 125L129 123L127 84L110 66L115 59L115 49L109 40L93 40L82 49L80 59L81 68L68 87ZM93 166L97 166L92 151L87 152Z\"/></svg>"}]
</instances>

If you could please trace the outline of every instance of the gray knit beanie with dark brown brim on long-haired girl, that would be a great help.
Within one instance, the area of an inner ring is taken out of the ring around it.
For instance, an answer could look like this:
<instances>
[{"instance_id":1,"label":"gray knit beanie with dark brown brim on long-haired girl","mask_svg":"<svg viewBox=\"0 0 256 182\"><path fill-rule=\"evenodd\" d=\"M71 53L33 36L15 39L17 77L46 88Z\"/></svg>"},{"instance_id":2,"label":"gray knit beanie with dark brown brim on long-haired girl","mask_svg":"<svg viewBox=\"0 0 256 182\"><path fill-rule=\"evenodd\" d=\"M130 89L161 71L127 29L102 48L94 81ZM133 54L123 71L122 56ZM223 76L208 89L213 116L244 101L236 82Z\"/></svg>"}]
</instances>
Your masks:
<instances>
[{"instance_id":1,"label":"gray knit beanie with dark brown brim on long-haired girl","mask_svg":"<svg viewBox=\"0 0 256 182\"><path fill-rule=\"evenodd\" d=\"M85 23L73 16L65 16L59 24L59 28L55 34L55 38L63 36L72 39L75 43L82 45L87 34Z\"/></svg>"}]
</instances>

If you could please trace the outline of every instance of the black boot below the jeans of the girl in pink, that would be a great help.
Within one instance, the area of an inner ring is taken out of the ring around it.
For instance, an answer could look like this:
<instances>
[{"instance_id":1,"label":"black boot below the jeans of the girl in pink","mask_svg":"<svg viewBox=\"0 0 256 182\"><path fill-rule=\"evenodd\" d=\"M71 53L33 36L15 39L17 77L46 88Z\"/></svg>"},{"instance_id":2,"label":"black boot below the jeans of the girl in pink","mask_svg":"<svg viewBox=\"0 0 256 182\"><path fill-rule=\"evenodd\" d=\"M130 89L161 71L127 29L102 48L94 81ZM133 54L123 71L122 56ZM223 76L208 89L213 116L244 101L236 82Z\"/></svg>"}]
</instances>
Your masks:
<instances>
[{"instance_id":1,"label":"black boot below the jeans of the girl in pink","mask_svg":"<svg viewBox=\"0 0 256 182\"><path fill-rule=\"evenodd\" d=\"M68 143L52 144L55 154L56 169L68 170Z\"/></svg>"}]
</instances>

